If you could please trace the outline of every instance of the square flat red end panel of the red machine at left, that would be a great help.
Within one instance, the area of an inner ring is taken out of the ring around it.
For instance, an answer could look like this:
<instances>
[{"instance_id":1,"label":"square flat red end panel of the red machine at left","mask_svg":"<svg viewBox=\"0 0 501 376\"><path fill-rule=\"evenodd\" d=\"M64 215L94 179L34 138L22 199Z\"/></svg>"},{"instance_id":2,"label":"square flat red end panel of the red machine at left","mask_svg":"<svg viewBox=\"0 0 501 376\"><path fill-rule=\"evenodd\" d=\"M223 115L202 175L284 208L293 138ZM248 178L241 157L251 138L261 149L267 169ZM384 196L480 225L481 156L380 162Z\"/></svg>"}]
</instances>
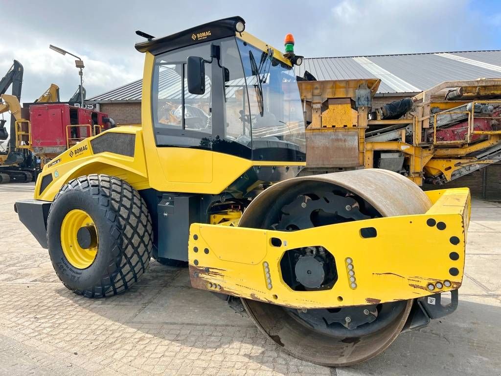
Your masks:
<instances>
[{"instance_id":1,"label":"square flat red end panel of the red machine at left","mask_svg":"<svg viewBox=\"0 0 501 376\"><path fill-rule=\"evenodd\" d=\"M32 105L30 106L30 122L33 146L66 147L66 126L70 124L69 105Z\"/></svg>"}]
</instances>

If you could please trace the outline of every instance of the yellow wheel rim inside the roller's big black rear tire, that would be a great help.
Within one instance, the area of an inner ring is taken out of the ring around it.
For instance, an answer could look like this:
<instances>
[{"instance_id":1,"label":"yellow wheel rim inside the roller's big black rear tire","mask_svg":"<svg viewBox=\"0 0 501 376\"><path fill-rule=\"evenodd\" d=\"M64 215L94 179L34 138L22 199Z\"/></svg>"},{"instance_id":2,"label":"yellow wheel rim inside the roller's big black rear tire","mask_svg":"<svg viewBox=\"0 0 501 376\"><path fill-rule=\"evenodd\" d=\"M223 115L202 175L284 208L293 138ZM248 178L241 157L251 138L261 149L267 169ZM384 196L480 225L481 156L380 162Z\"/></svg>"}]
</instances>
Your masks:
<instances>
[{"instance_id":1,"label":"yellow wheel rim inside the roller's big black rear tire","mask_svg":"<svg viewBox=\"0 0 501 376\"><path fill-rule=\"evenodd\" d=\"M97 229L85 211L74 209L61 225L61 246L68 262L77 269L92 265L98 251Z\"/></svg>"}]
</instances>

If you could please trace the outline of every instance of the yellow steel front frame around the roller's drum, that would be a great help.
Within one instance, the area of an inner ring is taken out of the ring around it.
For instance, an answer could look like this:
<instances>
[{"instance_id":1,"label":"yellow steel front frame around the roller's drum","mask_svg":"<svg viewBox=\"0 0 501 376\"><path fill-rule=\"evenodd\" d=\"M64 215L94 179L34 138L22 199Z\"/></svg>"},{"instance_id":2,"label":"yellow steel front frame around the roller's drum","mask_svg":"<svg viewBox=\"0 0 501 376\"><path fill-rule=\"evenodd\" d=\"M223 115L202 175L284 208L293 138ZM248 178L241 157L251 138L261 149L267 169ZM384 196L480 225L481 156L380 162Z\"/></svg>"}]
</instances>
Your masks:
<instances>
[{"instance_id":1,"label":"yellow steel front frame around the roller's drum","mask_svg":"<svg viewBox=\"0 0 501 376\"><path fill-rule=\"evenodd\" d=\"M463 276L469 190L437 190L426 195L433 205L422 215L295 232L193 224L188 250L191 284L292 308L378 304L457 289ZM363 228L376 229L376 237L363 238ZM274 246L273 238L280 239L281 245ZM333 288L293 291L282 279L284 253L308 246L323 246L334 256L338 280ZM355 272L356 288L352 288L349 270Z\"/></svg>"}]
</instances>

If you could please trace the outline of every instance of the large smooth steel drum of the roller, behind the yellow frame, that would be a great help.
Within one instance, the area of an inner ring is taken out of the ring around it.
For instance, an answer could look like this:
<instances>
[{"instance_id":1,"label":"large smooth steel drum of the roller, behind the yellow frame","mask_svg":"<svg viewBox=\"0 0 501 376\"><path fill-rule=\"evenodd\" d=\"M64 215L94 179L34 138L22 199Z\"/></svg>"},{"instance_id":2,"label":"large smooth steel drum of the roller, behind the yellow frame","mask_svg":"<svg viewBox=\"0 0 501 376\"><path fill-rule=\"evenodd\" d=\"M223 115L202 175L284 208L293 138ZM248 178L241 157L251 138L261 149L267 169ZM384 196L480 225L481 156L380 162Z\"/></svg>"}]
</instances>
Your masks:
<instances>
[{"instance_id":1,"label":"large smooth steel drum of the roller, behind the yellow frame","mask_svg":"<svg viewBox=\"0 0 501 376\"><path fill-rule=\"evenodd\" d=\"M419 187L402 175L382 169L355 170L277 183L249 205L239 226L294 231L422 214L430 206ZM378 257L370 249L367 255ZM283 350L313 363L339 366L384 351L404 327L413 300L310 310L257 300L242 299L242 303L256 325Z\"/></svg>"}]
</instances>

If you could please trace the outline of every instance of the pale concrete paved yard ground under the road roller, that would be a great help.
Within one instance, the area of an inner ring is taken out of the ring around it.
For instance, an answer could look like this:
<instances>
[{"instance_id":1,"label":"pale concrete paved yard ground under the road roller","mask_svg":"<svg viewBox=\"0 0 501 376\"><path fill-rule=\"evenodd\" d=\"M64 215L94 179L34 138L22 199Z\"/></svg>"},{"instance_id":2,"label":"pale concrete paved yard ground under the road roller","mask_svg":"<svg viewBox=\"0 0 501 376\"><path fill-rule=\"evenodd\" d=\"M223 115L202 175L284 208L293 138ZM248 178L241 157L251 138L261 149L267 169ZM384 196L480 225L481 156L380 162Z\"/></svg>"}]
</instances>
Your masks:
<instances>
[{"instance_id":1,"label":"pale concrete paved yard ground under the road roller","mask_svg":"<svg viewBox=\"0 0 501 376\"><path fill-rule=\"evenodd\" d=\"M281 352L246 317L189 287L186 269L152 261L123 295L87 299L58 280L0 185L0 375L500 375L501 204L474 201L459 307L346 368Z\"/></svg>"}]
</instances>

